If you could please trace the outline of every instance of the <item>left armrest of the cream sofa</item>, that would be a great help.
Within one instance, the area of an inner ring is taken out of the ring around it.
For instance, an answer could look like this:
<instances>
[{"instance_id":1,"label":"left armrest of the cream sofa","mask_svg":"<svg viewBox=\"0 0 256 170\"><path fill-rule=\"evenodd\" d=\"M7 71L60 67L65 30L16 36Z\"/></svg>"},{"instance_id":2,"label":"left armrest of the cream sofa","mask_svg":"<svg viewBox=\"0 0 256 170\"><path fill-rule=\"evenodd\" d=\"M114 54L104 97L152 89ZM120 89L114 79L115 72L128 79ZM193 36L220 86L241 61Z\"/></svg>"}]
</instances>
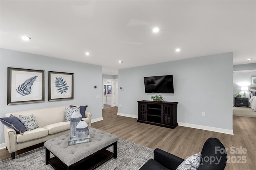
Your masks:
<instances>
[{"instance_id":1,"label":"left armrest of the cream sofa","mask_svg":"<svg viewBox=\"0 0 256 170\"><path fill-rule=\"evenodd\" d=\"M17 150L17 133L14 129L4 126L4 141L10 153Z\"/></svg>"}]
</instances>

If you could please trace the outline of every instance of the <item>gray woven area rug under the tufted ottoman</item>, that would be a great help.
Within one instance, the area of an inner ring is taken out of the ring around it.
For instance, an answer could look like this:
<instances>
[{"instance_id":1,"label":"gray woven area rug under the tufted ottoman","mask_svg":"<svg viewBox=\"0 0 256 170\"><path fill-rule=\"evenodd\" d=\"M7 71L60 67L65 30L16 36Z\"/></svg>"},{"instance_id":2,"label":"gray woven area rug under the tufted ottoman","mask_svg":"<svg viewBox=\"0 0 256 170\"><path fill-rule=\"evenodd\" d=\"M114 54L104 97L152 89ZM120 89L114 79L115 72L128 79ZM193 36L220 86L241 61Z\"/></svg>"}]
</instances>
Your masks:
<instances>
[{"instance_id":1,"label":"gray woven area rug under the tufted ottoman","mask_svg":"<svg viewBox=\"0 0 256 170\"><path fill-rule=\"evenodd\" d=\"M79 145L79 144L78 144ZM113 147L108 150L113 152ZM117 158L110 159L96 170L138 170L150 158L153 149L126 141L118 140ZM53 155L51 154L50 157ZM14 160L7 159L0 162L1 170L54 170L50 164L45 164L45 147L41 147L24 154L15 156Z\"/></svg>"}]
</instances>

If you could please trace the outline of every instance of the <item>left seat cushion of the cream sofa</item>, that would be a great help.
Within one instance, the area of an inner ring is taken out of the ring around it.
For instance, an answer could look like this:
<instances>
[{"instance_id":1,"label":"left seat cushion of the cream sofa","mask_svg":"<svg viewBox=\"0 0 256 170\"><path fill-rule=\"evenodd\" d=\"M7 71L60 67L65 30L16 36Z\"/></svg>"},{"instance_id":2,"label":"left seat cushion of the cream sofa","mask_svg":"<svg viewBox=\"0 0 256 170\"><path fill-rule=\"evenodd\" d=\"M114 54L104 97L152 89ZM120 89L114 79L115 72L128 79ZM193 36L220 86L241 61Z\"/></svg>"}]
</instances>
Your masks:
<instances>
[{"instance_id":1,"label":"left seat cushion of the cream sofa","mask_svg":"<svg viewBox=\"0 0 256 170\"><path fill-rule=\"evenodd\" d=\"M31 141L45 136L48 136L48 129L38 127L31 131L25 131L23 135L17 134L17 143Z\"/></svg>"}]
</instances>

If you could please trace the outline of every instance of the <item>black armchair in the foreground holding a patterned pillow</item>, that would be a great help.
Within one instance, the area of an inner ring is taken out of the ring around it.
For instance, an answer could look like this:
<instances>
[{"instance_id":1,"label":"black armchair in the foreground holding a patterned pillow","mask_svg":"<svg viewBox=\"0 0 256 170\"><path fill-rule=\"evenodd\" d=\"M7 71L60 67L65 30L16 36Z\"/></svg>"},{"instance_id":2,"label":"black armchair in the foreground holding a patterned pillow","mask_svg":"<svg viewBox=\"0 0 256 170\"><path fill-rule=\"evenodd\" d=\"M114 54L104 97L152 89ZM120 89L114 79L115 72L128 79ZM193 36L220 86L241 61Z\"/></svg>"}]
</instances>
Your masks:
<instances>
[{"instance_id":1,"label":"black armchair in the foreground holding a patterned pillow","mask_svg":"<svg viewBox=\"0 0 256 170\"><path fill-rule=\"evenodd\" d=\"M201 164L197 170L224 170L226 166L226 149L219 139L209 138L201 152ZM154 150L154 160L150 159L140 170L176 170L184 161L161 149Z\"/></svg>"}]
</instances>

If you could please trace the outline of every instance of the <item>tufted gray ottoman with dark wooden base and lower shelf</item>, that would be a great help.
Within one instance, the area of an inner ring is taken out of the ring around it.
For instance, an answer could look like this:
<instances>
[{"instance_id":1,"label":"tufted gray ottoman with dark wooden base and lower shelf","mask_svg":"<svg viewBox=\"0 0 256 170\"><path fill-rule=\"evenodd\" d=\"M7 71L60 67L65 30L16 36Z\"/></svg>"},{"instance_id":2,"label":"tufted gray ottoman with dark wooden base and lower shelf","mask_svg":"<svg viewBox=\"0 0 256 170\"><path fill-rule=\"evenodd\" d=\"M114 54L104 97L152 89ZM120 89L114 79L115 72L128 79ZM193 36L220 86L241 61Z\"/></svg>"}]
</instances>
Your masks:
<instances>
[{"instance_id":1,"label":"tufted gray ottoman with dark wooden base and lower shelf","mask_svg":"<svg viewBox=\"0 0 256 170\"><path fill-rule=\"evenodd\" d=\"M46 147L46 164L54 169L94 169L110 158L117 156L118 137L90 127L90 142L68 145L70 134L50 139ZM114 152L106 150L114 145ZM50 158L50 152L54 154Z\"/></svg>"}]
</instances>

